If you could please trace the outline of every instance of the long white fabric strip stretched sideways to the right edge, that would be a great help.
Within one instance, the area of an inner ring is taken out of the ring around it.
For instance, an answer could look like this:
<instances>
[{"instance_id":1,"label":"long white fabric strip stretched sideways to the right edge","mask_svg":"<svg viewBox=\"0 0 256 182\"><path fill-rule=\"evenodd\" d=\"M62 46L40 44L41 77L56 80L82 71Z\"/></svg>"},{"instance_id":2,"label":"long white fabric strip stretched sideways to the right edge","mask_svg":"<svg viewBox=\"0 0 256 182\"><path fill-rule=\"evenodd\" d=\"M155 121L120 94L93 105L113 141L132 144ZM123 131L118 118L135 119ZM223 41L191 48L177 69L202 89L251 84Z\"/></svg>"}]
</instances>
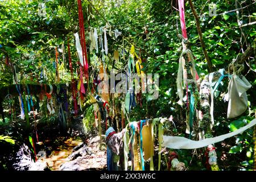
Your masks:
<instances>
[{"instance_id":1,"label":"long white fabric strip stretched sideways to the right edge","mask_svg":"<svg viewBox=\"0 0 256 182\"><path fill-rule=\"evenodd\" d=\"M170 137L163 135L163 146L174 149L194 149L208 146L209 144L221 142L226 138L233 137L234 135L240 134L243 131L249 129L256 124L256 119L253 119L248 125L241 127L240 129L233 131L232 133L220 135L218 137L207 138L199 141L191 140L184 137Z\"/></svg>"}]
</instances>

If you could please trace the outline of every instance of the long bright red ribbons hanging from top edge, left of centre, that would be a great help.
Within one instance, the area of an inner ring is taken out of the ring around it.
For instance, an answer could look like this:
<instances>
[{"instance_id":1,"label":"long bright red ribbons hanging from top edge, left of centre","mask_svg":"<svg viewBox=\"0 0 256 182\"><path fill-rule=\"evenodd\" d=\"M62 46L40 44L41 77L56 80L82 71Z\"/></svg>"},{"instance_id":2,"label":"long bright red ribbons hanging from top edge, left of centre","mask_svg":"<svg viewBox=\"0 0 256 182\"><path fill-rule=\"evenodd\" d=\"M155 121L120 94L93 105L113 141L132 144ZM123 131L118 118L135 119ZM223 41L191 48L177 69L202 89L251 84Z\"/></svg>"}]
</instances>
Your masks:
<instances>
[{"instance_id":1,"label":"long bright red ribbons hanging from top edge, left of centre","mask_svg":"<svg viewBox=\"0 0 256 182\"><path fill-rule=\"evenodd\" d=\"M82 14L81 0L77 0L77 3L78 3L78 9L79 9L79 27L80 27L80 36L81 36L82 60L84 63L84 75L87 80L87 85L89 88L89 73L88 73L88 59L87 59L86 42L85 42L84 15Z\"/></svg>"}]
</instances>

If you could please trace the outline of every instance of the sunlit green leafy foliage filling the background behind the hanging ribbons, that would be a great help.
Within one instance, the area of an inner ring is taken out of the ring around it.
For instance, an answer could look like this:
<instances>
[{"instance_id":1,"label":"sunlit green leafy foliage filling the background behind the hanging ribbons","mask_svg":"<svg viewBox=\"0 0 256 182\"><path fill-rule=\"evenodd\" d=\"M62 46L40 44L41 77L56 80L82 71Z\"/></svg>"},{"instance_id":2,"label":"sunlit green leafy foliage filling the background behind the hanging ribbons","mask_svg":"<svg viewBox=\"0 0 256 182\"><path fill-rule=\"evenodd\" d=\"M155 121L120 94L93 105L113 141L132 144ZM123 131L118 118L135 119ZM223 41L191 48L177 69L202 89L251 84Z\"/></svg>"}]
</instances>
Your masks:
<instances>
[{"instance_id":1,"label":"sunlit green leafy foliage filling the background behind the hanging ribbons","mask_svg":"<svg viewBox=\"0 0 256 182\"><path fill-rule=\"evenodd\" d=\"M40 2L46 3L46 16L39 16L38 5ZM115 38L114 35L108 36L109 55L106 59L108 68L113 65L117 71L123 71L127 64L129 53L125 54L125 60L121 59L119 63L113 64L113 52L121 52L125 48L129 52L131 44L135 45L137 53L141 53L144 60L143 71L146 73L159 73L159 98L157 100L147 99L148 95L142 96L142 107L137 106L129 113L131 121L147 117L170 117L173 115L175 129L170 127L172 135L183 136L185 131L185 112L184 108L179 107L177 102L176 77L179 67L179 56L182 50L181 40L178 34L181 34L179 12L176 1L167 0L125 0L125 1L90 1L95 9L90 6L88 1L82 1L86 43L89 47L88 28L102 27L106 25L106 20L112 25L112 31L117 28L122 32L121 36ZM253 1L238 1L238 5L245 7L239 11L243 24L251 23L255 20L256 14L253 13ZM245 36L242 35L238 27L237 14L234 1L216 1L217 14L209 16L209 1L193 1L199 15L200 26L203 33L203 40L207 48L209 59L213 63L214 69L226 68L237 55L245 51L247 45L255 44L255 26L245 26L242 28ZM247 7L246 7L247 6ZM226 13L225 13L226 12ZM64 43L67 57L67 38L71 46L72 64L74 68L74 77L77 78L76 69L78 68L78 57L73 38L73 33L79 31L79 19L77 12L77 1L35 1L35 0L17 0L0 2L0 86L13 84L13 71L11 67L5 64L6 57L10 58L11 63L18 67L22 83L55 83L56 69L55 47L61 48ZM104 18L102 18L104 16ZM185 1L185 22L187 26L188 40L193 53L196 69L200 77L208 74L207 61L201 49L199 35L195 26L195 18L189 7L188 1ZM60 54L60 77L61 82L70 82L71 76L69 69L66 69ZM89 53L90 67L93 72L98 68L98 58L100 54L95 51ZM250 65L250 68L249 66ZM68 68L68 65L67 65ZM249 59L245 65L243 74L253 86L255 80L255 59ZM92 75L90 76L92 78ZM228 81L224 82L228 85ZM214 99L214 118L216 126L213 127L213 135L221 135L229 131L235 131L245 126L251 121L253 110L255 109L255 87L249 90L248 98L251 102L250 110L246 111L241 118L233 120L226 119L226 103L222 101L222 95L226 93L226 86L222 86L219 97ZM123 98L121 98L123 99ZM120 100L121 101L121 100ZM117 103L117 102L116 102ZM46 110L43 105L42 111ZM249 117L247 117L249 115ZM53 121L54 117L42 117L43 122ZM89 106L84 113L84 129L86 133L93 129L94 110ZM247 130L234 138L225 141L227 151L221 144L216 144L218 156L222 155L222 150L227 153L229 163L234 162L234 166L240 166L245 169L251 169L253 158L253 141L251 139L252 130ZM205 159L191 157L195 151L178 150L186 166L192 166L189 169L205 169ZM197 151L203 154L203 151ZM241 160L233 159L238 155ZM230 169L224 162L220 161L221 169ZM237 168L236 168L237 169Z\"/></svg>"}]
</instances>

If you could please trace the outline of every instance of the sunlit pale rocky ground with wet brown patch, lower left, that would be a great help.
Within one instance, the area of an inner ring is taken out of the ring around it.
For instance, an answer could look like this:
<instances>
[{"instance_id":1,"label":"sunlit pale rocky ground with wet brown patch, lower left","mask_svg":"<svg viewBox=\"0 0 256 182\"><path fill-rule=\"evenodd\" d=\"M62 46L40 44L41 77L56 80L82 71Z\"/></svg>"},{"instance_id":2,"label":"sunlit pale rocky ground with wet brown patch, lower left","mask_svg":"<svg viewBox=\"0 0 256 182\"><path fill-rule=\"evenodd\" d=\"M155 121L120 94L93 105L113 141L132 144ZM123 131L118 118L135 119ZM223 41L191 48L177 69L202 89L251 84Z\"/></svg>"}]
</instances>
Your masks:
<instances>
[{"instance_id":1,"label":"sunlit pale rocky ground with wet brown patch, lower left","mask_svg":"<svg viewBox=\"0 0 256 182\"><path fill-rule=\"evenodd\" d=\"M52 171L69 170L69 171L82 171L82 170L102 170L106 168L106 151L105 146L102 144L100 150L99 137L93 137L86 140L86 150L76 158L68 158L73 151L73 148L81 144L82 140L76 138L57 138L53 142L50 140L45 141L46 147L52 147L51 155L42 159L47 162ZM56 147L54 147L57 145ZM61 166L63 165L63 166Z\"/></svg>"}]
</instances>

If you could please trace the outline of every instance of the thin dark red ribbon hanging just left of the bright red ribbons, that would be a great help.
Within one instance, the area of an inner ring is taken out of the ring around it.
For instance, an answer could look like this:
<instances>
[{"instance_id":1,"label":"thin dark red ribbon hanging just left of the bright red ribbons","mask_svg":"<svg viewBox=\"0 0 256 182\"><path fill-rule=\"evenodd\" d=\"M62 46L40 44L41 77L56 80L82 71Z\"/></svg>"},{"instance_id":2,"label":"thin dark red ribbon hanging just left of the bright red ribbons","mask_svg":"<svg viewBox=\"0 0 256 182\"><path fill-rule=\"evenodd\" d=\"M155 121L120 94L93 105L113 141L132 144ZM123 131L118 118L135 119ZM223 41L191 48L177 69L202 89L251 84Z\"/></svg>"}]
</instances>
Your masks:
<instances>
[{"instance_id":1,"label":"thin dark red ribbon hanging just left of the bright red ribbons","mask_svg":"<svg viewBox=\"0 0 256 182\"><path fill-rule=\"evenodd\" d=\"M76 100L76 85L73 75L73 67L72 67L72 60L71 60L71 52L70 52L70 46L69 46L69 39L68 39L68 60L69 60L69 69L71 72L71 90L72 90L72 97L74 100L74 109L75 109L75 115L78 113L77 109L77 100Z\"/></svg>"}]
</instances>

